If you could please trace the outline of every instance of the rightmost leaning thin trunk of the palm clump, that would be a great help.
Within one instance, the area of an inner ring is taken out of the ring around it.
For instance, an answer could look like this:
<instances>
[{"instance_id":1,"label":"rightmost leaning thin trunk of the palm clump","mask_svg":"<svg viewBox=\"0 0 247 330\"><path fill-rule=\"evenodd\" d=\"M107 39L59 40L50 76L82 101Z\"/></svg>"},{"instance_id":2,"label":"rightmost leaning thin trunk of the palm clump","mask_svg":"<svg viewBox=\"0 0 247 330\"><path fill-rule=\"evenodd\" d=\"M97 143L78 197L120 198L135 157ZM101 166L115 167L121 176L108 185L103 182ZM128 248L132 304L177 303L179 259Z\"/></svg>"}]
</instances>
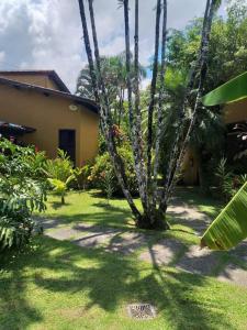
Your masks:
<instances>
[{"instance_id":1,"label":"rightmost leaning thin trunk of the palm clump","mask_svg":"<svg viewBox=\"0 0 247 330\"><path fill-rule=\"evenodd\" d=\"M199 63L198 66L199 66L199 70L200 70L198 92L197 92L197 97L195 97L195 102L194 102L194 107L193 107L193 111L192 111L191 121L190 121L189 128L186 133L186 138L184 138L183 142L181 143L181 146L179 146L179 141L177 142L177 145L175 146L176 152L173 150L175 160L172 160L172 156L170 160L170 164L176 163L176 165L175 165L175 167L170 165L168 180L167 180L167 189L165 190L165 194L162 194L162 197L160 200L160 206L159 206L160 210L166 210L166 208L167 208L167 201L168 201L170 194L175 187L175 184L177 183L177 177L180 172L184 152L188 146L190 135L191 135L191 132L192 132L192 129L194 127L194 122L197 119L197 110L198 110L198 106L200 103L201 91L202 91L202 87L203 87L203 82L204 82L204 78L205 78L205 74L206 74L206 57L207 57L207 53L209 53L210 32L211 32L211 28L212 28L212 21L213 21L213 14L215 11L216 1L217 0L212 0L212 1L207 0L206 1L206 9L205 9L203 29L202 29L202 40L201 40L201 46L200 46L199 59L198 59L198 63ZM197 69L197 67L195 67L195 69ZM195 77L195 74L191 75L191 79L192 79L192 77ZM190 80L188 88L187 88L186 98L183 101L182 118L184 118L186 105L188 103L188 97L189 97L189 94L191 90L191 86L193 86L193 81ZM178 150L178 157L176 157L177 150Z\"/></svg>"}]
</instances>

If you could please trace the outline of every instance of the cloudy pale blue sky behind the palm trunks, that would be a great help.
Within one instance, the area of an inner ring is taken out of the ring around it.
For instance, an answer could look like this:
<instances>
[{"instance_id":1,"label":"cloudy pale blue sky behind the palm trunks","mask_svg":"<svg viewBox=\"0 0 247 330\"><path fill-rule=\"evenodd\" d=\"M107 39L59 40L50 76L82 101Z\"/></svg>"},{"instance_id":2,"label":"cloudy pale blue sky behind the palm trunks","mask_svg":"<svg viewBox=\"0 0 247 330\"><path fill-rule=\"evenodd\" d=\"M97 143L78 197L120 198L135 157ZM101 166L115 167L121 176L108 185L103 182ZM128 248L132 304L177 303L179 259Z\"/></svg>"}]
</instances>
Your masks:
<instances>
[{"instance_id":1,"label":"cloudy pale blue sky behind the palm trunks","mask_svg":"<svg viewBox=\"0 0 247 330\"><path fill-rule=\"evenodd\" d=\"M101 55L124 50L123 9L117 0L94 0ZM130 0L133 26L134 0ZM156 0L141 0L141 63L154 53ZM168 28L183 29L201 16L205 0L168 0ZM224 4L220 13L224 15ZM71 92L87 64L77 0L0 0L0 70L55 69ZM133 37L133 35L132 35Z\"/></svg>"}]
</instances>

